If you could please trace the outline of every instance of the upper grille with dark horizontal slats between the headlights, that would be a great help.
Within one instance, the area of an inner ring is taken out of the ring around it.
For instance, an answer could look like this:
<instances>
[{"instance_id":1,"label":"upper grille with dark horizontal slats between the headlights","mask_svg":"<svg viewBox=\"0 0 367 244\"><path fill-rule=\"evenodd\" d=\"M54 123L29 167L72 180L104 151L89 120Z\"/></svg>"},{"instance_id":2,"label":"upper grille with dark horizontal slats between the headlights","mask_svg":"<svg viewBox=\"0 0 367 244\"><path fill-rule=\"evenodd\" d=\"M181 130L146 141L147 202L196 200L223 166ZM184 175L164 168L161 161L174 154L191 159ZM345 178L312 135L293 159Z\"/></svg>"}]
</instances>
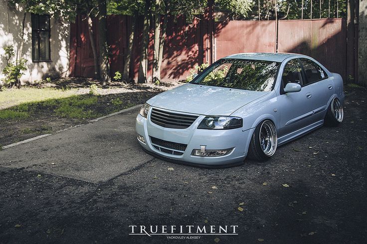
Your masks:
<instances>
[{"instance_id":1,"label":"upper grille with dark horizontal slats between the headlights","mask_svg":"<svg viewBox=\"0 0 367 244\"><path fill-rule=\"evenodd\" d=\"M166 128L184 129L189 127L198 116L176 114L152 109L151 121Z\"/></svg>"}]
</instances>

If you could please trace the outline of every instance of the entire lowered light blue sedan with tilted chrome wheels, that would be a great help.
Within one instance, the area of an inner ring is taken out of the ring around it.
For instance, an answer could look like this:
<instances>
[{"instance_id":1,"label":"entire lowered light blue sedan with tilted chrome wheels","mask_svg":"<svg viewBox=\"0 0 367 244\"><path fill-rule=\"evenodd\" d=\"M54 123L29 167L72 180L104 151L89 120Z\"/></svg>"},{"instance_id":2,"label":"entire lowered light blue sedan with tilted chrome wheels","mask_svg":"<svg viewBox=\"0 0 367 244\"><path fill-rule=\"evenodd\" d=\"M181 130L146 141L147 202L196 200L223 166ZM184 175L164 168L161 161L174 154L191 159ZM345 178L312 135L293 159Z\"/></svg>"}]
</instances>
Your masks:
<instances>
[{"instance_id":1,"label":"entire lowered light blue sedan with tilted chrome wheels","mask_svg":"<svg viewBox=\"0 0 367 244\"><path fill-rule=\"evenodd\" d=\"M175 161L263 161L277 146L324 123L338 125L343 102L342 77L311 57L235 54L148 100L136 131L146 151Z\"/></svg>"}]
</instances>

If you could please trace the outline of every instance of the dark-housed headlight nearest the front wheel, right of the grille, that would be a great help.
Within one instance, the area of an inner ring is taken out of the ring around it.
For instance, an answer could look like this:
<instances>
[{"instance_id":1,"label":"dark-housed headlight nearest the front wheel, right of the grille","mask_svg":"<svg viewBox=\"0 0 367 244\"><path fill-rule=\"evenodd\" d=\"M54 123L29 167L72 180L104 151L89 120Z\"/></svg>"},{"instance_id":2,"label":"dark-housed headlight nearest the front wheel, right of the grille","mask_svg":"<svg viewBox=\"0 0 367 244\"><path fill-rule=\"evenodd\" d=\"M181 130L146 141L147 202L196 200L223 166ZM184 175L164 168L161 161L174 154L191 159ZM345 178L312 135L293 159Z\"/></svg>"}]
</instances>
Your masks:
<instances>
[{"instance_id":1,"label":"dark-housed headlight nearest the front wheel, right of the grille","mask_svg":"<svg viewBox=\"0 0 367 244\"><path fill-rule=\"evenodd\" d=\"M234 129L242 127L242 118L232 116L207 116L198 129Z\"/></svg>"}]
</instances>

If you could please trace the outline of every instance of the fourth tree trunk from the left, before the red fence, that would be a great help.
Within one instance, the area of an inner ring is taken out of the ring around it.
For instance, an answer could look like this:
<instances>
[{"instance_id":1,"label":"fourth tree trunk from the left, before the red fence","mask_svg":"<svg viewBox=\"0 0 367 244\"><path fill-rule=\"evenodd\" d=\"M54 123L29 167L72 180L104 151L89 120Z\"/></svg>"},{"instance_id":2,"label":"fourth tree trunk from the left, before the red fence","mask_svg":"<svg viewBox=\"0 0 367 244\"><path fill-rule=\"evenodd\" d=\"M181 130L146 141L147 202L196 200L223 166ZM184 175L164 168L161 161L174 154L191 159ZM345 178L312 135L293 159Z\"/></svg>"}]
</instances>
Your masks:
<instances>
[{"instance_id":1,"label":"fourth tree trunk from the left, before the red fence","mask_svg":"<svg viewBox=\"0 0 367 244\"><path fill-rule=\"evenodd\" d=\"M150 20L149 10L150 10L150 0L147 0L145 3L145 9L144 9L144 28L143 28L143 40L142 40L141 54L140 54L138 83L147 83L149 20Z\"/></svg>"}]
</instances>

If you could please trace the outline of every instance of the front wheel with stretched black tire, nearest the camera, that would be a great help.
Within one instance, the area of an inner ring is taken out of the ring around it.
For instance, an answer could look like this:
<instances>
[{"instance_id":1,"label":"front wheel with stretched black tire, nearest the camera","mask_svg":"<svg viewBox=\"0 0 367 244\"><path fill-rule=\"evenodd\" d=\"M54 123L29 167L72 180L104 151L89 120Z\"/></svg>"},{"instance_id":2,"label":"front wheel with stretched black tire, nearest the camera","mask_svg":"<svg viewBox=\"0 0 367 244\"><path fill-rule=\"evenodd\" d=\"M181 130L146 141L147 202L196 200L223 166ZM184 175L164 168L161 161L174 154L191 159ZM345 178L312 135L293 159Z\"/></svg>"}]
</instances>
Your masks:
<instances>
[{"instance_id":1,"label":"front wheel with stretched black tire, nearest the camera","mask_svg":"<svg viewBox=\"0 0 367 244\"><path fill-rule=\"evenodd\" d=\"M257 161L268 160L275 153L277 143L278 137L274 123L265 120L256 126L247 156Z\"/></svg>"}]
</instances>

